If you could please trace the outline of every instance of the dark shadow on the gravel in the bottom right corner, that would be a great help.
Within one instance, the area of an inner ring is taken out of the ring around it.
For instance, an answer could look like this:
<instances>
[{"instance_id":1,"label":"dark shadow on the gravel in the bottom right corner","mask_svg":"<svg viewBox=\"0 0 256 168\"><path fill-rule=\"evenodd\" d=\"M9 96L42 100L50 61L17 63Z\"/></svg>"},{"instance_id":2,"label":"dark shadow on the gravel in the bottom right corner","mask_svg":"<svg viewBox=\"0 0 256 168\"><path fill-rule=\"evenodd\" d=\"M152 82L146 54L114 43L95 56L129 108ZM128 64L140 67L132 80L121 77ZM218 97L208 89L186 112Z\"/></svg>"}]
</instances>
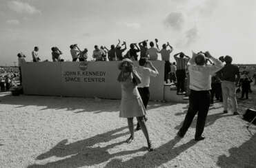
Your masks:
<instances>
[{"instance_id":1,"label":"dark shadow on the gravel in the bottom right corner","mask_svg":"<svg viewBox=\"0 0 256 168\"><path fill-rule=\"evenodd\" d=\"M221 155L218 158L219 167L256 167L256 134L239 147L228 149L228 156Z\"/></svg>"}]
</instances>

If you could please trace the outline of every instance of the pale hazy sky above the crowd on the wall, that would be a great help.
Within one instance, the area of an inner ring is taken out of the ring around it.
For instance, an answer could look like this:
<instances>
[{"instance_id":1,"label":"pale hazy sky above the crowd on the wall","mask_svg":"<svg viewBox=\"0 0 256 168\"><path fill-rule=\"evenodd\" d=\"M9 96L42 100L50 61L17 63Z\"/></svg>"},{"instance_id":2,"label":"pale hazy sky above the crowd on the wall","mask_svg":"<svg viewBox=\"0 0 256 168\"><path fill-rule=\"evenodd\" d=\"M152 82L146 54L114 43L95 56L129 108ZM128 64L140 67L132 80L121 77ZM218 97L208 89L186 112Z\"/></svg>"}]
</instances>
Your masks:
<instances>
[{"instance_id":1,"label":"pale hazy sky above the crowd on the wall","mask_svg":"<svg viewBox=\"0 0 256 168\"><path fill-rule=\"evenodd\" d=\"M169 41L173 54L209 50L233 56L234 63L256 63L255 0L0 0L0 65L27 61L39 46L51 61L52 46L71 60L69 45L88 48L144 39Z\"/></svg>"}]
</instances>

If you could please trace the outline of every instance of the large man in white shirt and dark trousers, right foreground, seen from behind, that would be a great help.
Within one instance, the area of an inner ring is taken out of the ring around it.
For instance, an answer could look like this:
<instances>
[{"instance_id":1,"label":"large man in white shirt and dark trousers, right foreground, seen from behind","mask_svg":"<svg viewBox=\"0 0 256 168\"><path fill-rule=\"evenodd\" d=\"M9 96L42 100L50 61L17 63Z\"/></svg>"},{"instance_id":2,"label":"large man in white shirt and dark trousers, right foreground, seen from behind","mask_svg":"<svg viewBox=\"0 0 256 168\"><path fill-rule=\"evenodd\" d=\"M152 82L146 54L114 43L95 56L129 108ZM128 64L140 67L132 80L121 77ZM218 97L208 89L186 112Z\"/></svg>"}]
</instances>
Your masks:
<instances>
[{"instance_id":1,"label":"large man in white shirt and dark trousers, right foreground, seen from behind","mask_svg":"<svg viewBox=\"0 0 256 168\"><path fill-rule=\"evenodd\" d=\"M206 65L206 58L211 59L214 65ZM208 109L210 107L211 76L223 67L221 61L213 58L209 52L193 53L193 58L189 61L188 71L190 74L190 96L189 107L184 123L179 129L178 136L184 137L190 127L195 114L197 114L197 127L195 140L204 140L201 134L204 132L204 125Z\"/></svg>"}]
</instances>

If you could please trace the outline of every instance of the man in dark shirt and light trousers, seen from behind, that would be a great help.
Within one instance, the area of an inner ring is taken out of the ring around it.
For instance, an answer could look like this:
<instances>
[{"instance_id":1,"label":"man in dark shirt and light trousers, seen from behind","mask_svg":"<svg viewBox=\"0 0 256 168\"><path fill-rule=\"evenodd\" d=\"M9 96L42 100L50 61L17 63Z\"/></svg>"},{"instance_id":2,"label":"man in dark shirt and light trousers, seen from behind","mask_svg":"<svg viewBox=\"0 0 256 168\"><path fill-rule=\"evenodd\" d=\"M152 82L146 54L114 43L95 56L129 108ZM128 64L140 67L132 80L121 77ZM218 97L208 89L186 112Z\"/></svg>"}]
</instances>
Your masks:
<instances>
[{"instance_id":1,"label":"man in dark shirt and light trousers, seen from behind","mask_svg":"<svg viewBox=\"0 0 256 168\"><path fill-rule=\"evenodd\" d=\"M237 65L232 64L232 57L225 56L225 65L224 67L218 72L221 74L221 89L222 89L222 96L223 96L223 105L224 105L224 113L228 113L228 98L230 98L232 102L232 109L233 114L238 115L237 112L237 99L235 93L235 86L240 79L239 67ZM237 78L236 78L237 76Z\"/></svg>"}]
</instances>

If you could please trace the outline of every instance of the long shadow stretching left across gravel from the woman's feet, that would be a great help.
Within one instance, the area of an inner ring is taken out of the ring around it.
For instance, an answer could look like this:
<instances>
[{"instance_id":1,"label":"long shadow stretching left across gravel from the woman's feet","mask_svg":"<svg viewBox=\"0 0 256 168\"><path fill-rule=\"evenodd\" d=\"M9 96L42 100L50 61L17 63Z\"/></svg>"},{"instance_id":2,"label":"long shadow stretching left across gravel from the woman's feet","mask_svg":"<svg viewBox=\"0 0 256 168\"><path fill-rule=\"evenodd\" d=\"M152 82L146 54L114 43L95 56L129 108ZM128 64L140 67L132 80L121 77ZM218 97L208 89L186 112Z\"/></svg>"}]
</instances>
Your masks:
<instances>
[{"instance_id":1,"label":"long shadow stretching left across gravel from the woman's feet","mask_svg":"<svg viewBox=\"0 0 256 168\"><path fill-rule=\"evenodd\" d=\"M145 150L143 148L137 149L135 151L121 151L115 154L109 154L108 149L121 145L125 141L119 143L112 143L106 147L92 147L97 143L107 143L110 140L119 138L121 136L126 136L128 132L120 133L127 127L121 127L119 129L106 132L104 134L99 134L97 136L92 136L91 138L85 140L79 140L75 143L68 143L68 140L61 140L55 147L50 149L44 154L37 156L37 160L45 160L56 156L58 158L63 158L54 162L48 162L46 165L30 165L32 167L82 167L82 166L92 166L97 165L101 162L106 162L114 156L122 156L126 154L132 154L137 151Z\"/></svg>"}]
</instances>

